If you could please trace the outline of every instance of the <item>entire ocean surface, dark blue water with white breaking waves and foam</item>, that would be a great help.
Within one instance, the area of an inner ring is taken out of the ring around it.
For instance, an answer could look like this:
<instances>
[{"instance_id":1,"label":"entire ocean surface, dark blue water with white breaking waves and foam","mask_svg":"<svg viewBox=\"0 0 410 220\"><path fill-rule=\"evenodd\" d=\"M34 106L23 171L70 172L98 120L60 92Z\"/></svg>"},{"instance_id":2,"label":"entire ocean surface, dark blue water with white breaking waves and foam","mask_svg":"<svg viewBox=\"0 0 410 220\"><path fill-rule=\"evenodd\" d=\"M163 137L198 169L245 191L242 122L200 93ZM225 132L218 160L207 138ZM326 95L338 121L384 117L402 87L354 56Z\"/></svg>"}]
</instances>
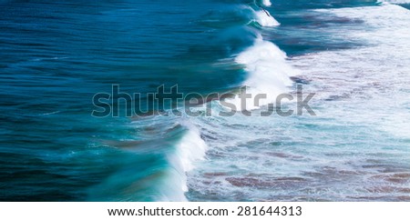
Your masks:
<instances>
[{"instance_id":1,"label":"entire ocean surface, dark blue water with white breaking waves and foam","mask_svg":"<svg viewBox=\"0 0 410 220\"><path fill-rule=\"evenodd\" d=\"M0 1L0 200L410 201L409 4ZM112 85L316 115L92 116Z\"/></svg>"}]
</instances>

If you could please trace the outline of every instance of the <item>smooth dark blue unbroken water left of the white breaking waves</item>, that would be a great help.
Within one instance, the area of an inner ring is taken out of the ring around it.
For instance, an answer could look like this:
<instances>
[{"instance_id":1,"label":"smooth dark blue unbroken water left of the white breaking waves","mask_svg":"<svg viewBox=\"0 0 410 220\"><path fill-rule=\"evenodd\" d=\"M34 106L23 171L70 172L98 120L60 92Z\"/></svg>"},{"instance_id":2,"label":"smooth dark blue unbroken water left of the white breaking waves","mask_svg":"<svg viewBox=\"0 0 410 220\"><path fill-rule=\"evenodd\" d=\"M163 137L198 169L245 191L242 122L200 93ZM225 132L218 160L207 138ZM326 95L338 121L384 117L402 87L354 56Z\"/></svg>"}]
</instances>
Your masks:
<instances>
[{"instance_id":1,"label":"smooth dark blue unbroken water left of the white breaking waves","mask_svg":"<svg viewBox=\"0 0 410 220\"><path fill-rule=\"evenodd\" d=\"M207 22L224 10L226 25ZM251 43L236 34L246 17L235 14L214 1L3 1L1 200L87 200L88 188L124 166L166 166L161 152L101 144L136 131L128 119L93 118L92 96L113 84L142 94L162 84L199 93L238 84L237 70L210 65ZM121 199L110 194L104 199Z\"/></svg>"}]
</instances>

